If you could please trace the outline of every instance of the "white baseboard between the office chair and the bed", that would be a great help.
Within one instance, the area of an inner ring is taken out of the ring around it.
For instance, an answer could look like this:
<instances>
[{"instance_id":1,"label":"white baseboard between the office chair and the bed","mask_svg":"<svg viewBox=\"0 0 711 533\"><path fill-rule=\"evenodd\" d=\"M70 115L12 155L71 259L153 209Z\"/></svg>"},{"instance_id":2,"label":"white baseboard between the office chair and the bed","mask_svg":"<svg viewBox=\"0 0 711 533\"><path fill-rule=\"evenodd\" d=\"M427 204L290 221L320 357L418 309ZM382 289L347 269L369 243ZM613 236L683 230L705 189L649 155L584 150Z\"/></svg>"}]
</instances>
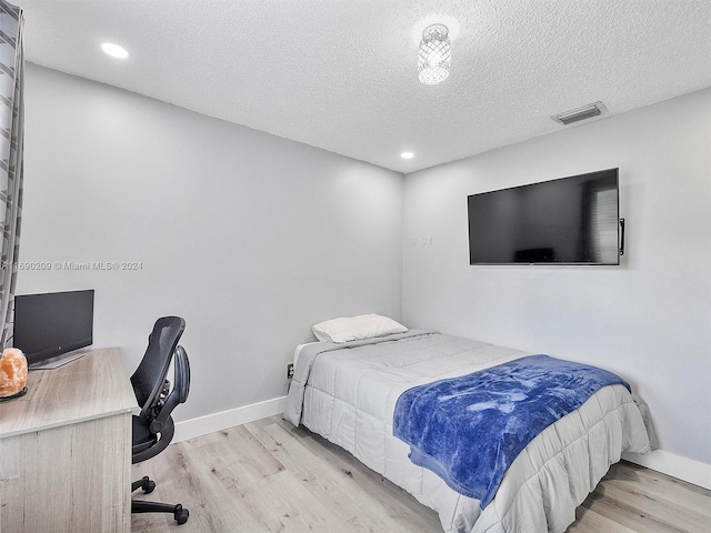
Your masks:
<instances>
[{"instance_id":1,"label":"white baseboard between the office chair and the bed","mask_svg":"<svg viewBox=\"0 0 711 533\"><path fill-rule=\"evenodd\" d=\"M266 419L284 412L287 396L274 398L266 402L253 403L242 408L230 409L220 413L208 414L198 419L176 423L176 435L172 442L186 441L196 436L207 435L214 431L226 430L236 425Z\"/></svg>"}]
</instances>

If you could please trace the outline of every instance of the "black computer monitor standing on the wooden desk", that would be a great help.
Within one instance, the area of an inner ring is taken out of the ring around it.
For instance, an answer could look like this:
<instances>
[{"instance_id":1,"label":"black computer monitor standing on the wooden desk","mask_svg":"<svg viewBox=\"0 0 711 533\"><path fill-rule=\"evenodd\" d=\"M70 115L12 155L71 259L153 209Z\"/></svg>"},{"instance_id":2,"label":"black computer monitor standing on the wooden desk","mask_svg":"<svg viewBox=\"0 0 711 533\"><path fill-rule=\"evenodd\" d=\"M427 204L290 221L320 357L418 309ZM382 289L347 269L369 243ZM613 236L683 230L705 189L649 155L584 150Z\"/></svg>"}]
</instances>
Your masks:
<instances>
[{"instance_id":1,"label":"black computer monitor standing on the wooden desk","mask_svg":"<svg viewBox=\"0 0 711 533\"><path fill-rule=\"evenodd\" d=\"M93 290L14 296L13 345L28 365L93 342Z\"/></svg>"}]
</instances>

